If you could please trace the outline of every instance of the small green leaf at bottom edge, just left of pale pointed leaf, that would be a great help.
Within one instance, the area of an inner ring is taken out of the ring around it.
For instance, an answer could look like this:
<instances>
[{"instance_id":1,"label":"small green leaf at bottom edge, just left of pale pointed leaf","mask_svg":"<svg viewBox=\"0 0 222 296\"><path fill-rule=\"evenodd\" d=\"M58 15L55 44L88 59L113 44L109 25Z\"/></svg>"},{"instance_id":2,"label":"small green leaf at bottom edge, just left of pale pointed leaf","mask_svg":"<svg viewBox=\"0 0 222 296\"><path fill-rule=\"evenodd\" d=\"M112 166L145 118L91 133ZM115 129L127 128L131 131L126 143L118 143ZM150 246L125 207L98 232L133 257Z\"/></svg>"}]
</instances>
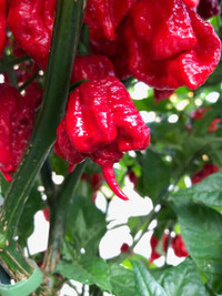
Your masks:
<instances>
[{"instance_id":1,"label":"small green leaf at bottom edge, just left of pale pointed leaf","mask_svg":"<svg viewBox=\"0 0 222 296\"><path fill-rule=\"evenodd\" d=\"M132 269L124 268L119 264L110 265L110 282L112 294L115 296L134 296L134 276Z\"/></svg>"}]
</instances>

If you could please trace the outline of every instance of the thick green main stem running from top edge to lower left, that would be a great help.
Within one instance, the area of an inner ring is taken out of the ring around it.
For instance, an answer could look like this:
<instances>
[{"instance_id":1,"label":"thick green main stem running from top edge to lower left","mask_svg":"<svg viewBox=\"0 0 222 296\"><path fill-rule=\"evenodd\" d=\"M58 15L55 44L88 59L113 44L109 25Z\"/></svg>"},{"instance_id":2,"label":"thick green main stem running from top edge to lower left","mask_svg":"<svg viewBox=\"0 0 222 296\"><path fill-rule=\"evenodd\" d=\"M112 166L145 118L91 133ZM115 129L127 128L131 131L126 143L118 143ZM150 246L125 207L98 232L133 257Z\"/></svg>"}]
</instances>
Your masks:
<instances>
[{"instance_id":1,"label":"thick green main stem running from top edge to lower left","mask_svg":"<svg viewBox=\"0 0 222 296\"><path fill-rule=\"evenodd\" d=\"M34 178L56 140L57 126L63 115L67 103L69 81L84 7L84 0L57 1L43 105L37 119L29 145L18 172L13 176L0 212L0 249L4 251L4 254L6 249L11 249L10 245L13 243L12 237L23 205L29 196ZM1 254L0 252L0 256ZM31 266L27 266L26 261L22 264L28 272L31 272ZM11 265L9 264L9 269Z\"/></svg>"}]
</instances>

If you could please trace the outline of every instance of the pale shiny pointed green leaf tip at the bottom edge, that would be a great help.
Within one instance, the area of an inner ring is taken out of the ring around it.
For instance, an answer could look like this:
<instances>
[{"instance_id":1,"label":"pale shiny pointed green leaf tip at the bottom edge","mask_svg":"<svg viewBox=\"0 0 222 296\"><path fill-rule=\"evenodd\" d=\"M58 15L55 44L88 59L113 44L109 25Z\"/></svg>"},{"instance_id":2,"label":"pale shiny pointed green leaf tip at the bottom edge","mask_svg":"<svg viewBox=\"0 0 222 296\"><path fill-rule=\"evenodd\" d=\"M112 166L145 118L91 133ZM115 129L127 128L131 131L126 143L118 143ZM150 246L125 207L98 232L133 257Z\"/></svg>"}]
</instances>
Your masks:
<instances>
[{"instance_id":1,"label":"pale shiny pointed green leaf tip at the bottom edge","mask_svg":"<svg viewBox=\"0 0 222 296\"><path fill-rule=\"evenodd\" d=\"M132 261L135 295L138 296L168 296L164 289L155 282L148 269L140 263Z\"/></svg>"}]
</instances>

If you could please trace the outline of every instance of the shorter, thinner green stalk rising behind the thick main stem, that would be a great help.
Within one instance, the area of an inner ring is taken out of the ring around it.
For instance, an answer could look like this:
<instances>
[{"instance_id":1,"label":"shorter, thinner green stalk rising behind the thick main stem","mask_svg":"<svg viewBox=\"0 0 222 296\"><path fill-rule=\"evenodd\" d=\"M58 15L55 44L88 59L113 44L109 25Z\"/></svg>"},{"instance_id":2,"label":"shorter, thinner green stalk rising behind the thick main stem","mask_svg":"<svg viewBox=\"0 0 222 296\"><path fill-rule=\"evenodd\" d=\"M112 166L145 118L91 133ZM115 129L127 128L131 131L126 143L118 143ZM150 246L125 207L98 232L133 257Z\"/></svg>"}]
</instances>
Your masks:
<instances>
[{"instance_id":1,"label":"shorter, thinner green stalk rising behind the thick main stem","mask_svg":"<svg viewBox=\"0 0 222 296\"><path fill-rule=\"evenodd\" d=\"M48 273L54 271L60 259L60 245L65 231L67 213L73 203L75 188L84 166L85 162L80 163L73 173L67 176L51 207L49 244L43 263L43 269Z\"/></svg>"}]
</instances>

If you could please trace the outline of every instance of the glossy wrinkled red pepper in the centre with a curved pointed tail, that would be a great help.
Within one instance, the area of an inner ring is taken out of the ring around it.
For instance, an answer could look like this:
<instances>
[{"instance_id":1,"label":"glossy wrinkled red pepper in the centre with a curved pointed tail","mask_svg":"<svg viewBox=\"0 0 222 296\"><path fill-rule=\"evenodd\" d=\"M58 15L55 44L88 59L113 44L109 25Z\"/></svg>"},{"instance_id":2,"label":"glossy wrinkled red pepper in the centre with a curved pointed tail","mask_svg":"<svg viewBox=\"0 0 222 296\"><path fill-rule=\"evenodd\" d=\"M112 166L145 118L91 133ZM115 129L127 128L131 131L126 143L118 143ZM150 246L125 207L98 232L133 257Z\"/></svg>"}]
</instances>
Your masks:
<instances>
[{"instance_id":1,"label":"glossy wrinkled red pepper in the centre with a curved pointed tail","mask_svg":"<svg viewBox=\"0 0 222 296\"><path fill-rule=\"evenodd\" d=\"M150 130L124 85L114 76L82 83L70 95L67 113L57 131L56 152L69 162L90 157L98 163L110 188L123 200L113 172L123 152L144 150Z\"/></svg>"}]
</instances>

